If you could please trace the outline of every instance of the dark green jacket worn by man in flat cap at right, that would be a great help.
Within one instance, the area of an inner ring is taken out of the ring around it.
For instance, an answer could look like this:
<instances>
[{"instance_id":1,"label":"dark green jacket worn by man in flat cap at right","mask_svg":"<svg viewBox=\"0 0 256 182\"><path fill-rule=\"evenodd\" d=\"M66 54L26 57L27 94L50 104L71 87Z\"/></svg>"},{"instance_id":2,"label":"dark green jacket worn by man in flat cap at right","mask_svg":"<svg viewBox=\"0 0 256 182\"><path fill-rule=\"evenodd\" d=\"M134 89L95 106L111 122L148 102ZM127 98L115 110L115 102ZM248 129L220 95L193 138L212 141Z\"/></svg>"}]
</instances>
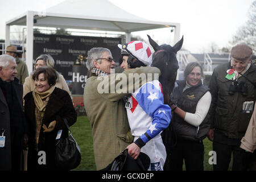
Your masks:
<instances>
[{"instance_id":1,"label":"dark green jacket worn by man in flat cap at right","mask_svg":"<svg viewBox=\"0 0 256 182\"><path fill-rule=\"evenodd\" d=\"M249 124L251 113L243 113L242 106L245 101L256 100L256 89L245 77L238 78L247 85L247 94L243 96L240 92L229 94L229 86L232 80L225 78L227 70L231 69L230 62L219 65L213 70L210 78L209 88L212 93L212 105L210 107L210 122L214 130L224 134L231 139L241 139ZM244 74L253 83L256 82L256 66L251 64Z\"/></svg>"}]
</instances>

